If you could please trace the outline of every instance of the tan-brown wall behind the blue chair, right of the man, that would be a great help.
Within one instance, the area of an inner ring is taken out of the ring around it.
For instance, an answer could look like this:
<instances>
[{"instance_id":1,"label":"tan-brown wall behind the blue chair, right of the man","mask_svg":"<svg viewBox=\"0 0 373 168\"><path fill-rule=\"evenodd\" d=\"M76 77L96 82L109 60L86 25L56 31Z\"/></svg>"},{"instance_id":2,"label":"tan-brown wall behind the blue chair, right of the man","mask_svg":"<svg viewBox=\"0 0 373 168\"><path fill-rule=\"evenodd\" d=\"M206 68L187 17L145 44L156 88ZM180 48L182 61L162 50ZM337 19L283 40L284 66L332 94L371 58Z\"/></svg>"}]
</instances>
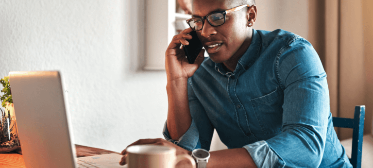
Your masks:
<instances>
[{"instance_id":1,"label":"tan-brown wall behind the blue chair, right of the man","mask_svg":"<svg viewBox=\"0 0 373 168\"><path fill-rule=\"evenodd\" d=\"M328 75L331 112L334 117L354 118L354 106L366 105L365 134L372 132L373 112L370 3L369 0L309 1L309 41ZM336 130L339 139L352 137L352 129Z\"/></svg>"}]
</instances>

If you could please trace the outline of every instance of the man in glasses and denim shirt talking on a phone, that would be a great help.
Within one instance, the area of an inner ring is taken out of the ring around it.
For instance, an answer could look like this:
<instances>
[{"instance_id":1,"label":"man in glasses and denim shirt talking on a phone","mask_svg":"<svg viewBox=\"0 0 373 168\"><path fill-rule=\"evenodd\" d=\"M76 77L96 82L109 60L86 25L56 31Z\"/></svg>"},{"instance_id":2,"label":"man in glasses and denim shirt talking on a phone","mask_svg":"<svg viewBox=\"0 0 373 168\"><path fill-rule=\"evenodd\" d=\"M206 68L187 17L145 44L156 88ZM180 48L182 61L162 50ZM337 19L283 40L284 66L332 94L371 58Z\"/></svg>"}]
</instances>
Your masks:
<instances>
[{"instance_id":1,"label":"man in glasses and denim shirt talking on a phone","mask_svg":"<svg viewBox=\"0 0 373 168\"><path fill-rule=\"evenodd\" d=\"M216 129L229 149L210 152L201 167L352 167L333 129L316 51L298 35L254 30L256 14L254 0L192 1L191 28L175 35L166 50L167 141L131 145L208 151ZM188 45L192 29L209 58L202 50L188 64L180 46Z\"/></svg>"}]
</instances>

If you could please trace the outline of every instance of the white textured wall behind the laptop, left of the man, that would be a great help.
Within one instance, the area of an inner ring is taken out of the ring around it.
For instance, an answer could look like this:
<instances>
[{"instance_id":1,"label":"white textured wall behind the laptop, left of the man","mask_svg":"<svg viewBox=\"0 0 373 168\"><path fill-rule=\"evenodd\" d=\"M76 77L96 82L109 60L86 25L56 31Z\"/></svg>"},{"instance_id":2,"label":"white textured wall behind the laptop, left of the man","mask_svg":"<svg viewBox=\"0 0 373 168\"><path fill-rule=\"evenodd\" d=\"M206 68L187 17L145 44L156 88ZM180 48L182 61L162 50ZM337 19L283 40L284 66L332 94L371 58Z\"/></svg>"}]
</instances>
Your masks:
<instances>
[{"instance_id":1,"label":"white textured wall behind the laptop, left of the man","mask_svg":"<svg viewBox=\"0 0 373 168\"><path fill-rule=\"evenodd\" d=\"M165 71L138 70L141 3L0 0L0 77L60 70L76 144L122 151L137 139L163 137Z\"/></svg>"}]
</instances>

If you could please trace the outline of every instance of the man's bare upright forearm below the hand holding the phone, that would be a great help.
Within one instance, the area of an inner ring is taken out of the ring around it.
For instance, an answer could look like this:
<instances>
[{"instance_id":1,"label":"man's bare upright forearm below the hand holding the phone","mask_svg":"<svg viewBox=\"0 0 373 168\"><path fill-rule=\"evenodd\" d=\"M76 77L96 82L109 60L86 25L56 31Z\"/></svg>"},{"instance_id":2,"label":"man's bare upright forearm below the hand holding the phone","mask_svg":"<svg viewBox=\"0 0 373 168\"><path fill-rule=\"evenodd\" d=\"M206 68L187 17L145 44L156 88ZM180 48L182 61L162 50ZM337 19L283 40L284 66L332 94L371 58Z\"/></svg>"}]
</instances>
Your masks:
<instances>
[{"instance_id":1,"label":"man's bare upright forearm below the hand holding the phone","mask_svg":"<svg viewBox=\"0 0 373 168\"><path fill-rule=\"evenodd\" d=\"M167 129L173 140L178 140L189 129L192 118L189 111L187 79L168 81L169 110Z\"/></svg>"}]
</instances>

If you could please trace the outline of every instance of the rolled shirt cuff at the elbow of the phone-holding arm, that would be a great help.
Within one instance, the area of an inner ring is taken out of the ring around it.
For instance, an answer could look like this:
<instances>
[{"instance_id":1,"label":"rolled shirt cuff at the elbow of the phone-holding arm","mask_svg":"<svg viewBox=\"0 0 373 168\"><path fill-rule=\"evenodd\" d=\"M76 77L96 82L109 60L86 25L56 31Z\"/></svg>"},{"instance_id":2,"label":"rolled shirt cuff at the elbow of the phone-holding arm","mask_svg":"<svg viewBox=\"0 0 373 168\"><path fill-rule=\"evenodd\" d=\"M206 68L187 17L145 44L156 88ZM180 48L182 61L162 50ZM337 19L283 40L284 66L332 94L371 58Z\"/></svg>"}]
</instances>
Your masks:
<instances>
[{"instance_id":1,"label":"rolled shirt cuff at the elbow of the phone-holding arm","mask_svg":"<svg viewBox=\"0 0 373 168\"><path fill-rule=\"evenodd\" d=\"M170 141L174 143L175 145L182 147L188 151L193 151L194 149L196 149L197 144L199 144L198 139L200 137L200 134L198 132L197 125L192 118L192 123L190 124L189 129L177 141L171 139L169 130L167 129L167 120L166 120L165 126L163 127L163 136L165 137L167 141Z\"/></svg>"}]
</instances>

